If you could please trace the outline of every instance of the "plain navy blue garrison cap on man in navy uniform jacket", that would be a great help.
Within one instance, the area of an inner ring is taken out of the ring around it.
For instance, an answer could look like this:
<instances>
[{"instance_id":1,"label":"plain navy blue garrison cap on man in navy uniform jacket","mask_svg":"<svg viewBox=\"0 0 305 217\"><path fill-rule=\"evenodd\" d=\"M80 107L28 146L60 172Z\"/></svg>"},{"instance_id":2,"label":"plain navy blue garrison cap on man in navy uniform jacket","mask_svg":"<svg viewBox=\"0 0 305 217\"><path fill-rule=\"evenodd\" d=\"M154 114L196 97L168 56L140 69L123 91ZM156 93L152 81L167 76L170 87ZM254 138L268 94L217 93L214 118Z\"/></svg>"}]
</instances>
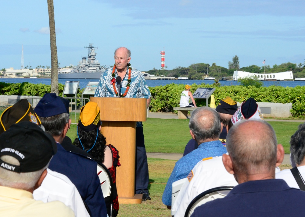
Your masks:
<instances>
[{"instance_id":1,"label":"plain navy blue garrison cap on man in navy uniform jacket","mask_svg":"<svg viewBox=\"0 0 305 217\"><path fill-rule=\"evenodd\" d=\"M69 113L67 112L65 103L55 93L46 93L39 100L34 111L39 117L43 118Z\"/></svg>"}]
</instances>

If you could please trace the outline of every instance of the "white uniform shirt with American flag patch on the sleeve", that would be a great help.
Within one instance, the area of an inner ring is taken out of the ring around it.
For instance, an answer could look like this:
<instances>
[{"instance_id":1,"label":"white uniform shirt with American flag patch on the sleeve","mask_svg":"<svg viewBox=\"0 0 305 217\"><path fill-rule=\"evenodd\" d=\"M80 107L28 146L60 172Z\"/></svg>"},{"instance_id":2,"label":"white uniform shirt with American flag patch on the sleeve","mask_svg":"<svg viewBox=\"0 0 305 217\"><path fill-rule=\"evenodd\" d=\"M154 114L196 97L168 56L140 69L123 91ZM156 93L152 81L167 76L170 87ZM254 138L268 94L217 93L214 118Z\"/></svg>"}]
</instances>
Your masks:
<instances>
[{"instance_id":1,"label":"white uniform shirt with American flag patch on the sleeve","mask_svg":"<svg viewBox=\"0 0 305 217\"><path fill-rule=\"evenodd\" d=\"M275 173L279 171L280 169L276 167ZM211 188L236 186L238 184L234 175L228 173L225 169L222 163L222 156L199 161L192 169L192 173L193 175L188 175L188 177L192 177L190 182L186 180L182 185L172 207L173 210L177 210L175 217L184 217L188 205L200 193Z\"/></svg>"}]
</instances>

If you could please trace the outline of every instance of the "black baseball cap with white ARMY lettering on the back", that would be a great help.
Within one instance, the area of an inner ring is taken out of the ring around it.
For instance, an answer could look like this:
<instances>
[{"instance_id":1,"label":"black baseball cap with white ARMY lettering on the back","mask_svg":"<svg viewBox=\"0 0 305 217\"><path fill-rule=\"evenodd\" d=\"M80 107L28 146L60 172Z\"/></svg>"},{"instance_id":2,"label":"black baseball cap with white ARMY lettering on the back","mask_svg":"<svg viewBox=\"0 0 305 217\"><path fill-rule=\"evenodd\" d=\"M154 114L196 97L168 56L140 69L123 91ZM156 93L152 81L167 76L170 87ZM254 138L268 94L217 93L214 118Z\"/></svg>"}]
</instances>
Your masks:
<instances>
[{"instance_id":1,"label":"black baseball cap with white ARMY lettering on the back","mask_svg":"<svg viewBox=\"0 0 305 217\"><path fill-rule=\"evenodd\" d=\"M29 121L13 124L0 135L0 157L15 157L20 165L0 159L0 167L17 173L34 172L45 167L56 153L54 138Z\"/></svg>"}]
</instances>

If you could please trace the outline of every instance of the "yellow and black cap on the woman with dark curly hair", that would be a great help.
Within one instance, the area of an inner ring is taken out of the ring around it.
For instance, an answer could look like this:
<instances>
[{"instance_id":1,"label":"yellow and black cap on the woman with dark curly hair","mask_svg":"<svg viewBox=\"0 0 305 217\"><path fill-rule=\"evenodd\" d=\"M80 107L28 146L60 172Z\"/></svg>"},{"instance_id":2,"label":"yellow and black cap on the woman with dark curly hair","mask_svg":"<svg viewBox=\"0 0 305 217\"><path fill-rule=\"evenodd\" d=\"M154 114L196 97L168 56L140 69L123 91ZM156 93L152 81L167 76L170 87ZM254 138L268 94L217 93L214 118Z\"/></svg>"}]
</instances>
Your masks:
<instances>
[{"instance_id":1,"label":"yellow and black cap on the woman with dark curly hair","mask_svg":"<svg viewBox=\"0 0 305 217\"><path fill-rule=\"evenodd\" d=\"M98 124L101 124L101 114L99 106L96 102L88 102L81 108L79 115L78 126L89 132L93 130Z\"/></svg>"}]
</instances>

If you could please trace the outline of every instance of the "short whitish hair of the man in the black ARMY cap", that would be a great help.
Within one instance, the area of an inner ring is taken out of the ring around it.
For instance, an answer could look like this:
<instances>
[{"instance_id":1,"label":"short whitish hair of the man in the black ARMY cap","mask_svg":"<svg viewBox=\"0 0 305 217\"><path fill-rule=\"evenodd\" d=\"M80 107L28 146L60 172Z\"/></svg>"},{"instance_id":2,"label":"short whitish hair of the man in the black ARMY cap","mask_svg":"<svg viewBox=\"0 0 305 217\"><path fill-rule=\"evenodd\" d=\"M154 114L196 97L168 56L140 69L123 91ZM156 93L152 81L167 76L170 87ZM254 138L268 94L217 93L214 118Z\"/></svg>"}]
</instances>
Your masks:
<instances>
[{"instance_id":1,"label":"short whitish hair of the man in the black ARMY cap","mask_svg":"<svg viewBox=\"0 0 305 217\"><path fill-rule=\"evenodd\" d=\"M20 165L19 161L15 157L3 155L0 158L9 164L16 166ZM40 170L28 173L16 173L0 167L0 185L23 190L32 189L40 178L42 172L48 168L48 166L49 163Z\"/></svg>"}]
</instances>

